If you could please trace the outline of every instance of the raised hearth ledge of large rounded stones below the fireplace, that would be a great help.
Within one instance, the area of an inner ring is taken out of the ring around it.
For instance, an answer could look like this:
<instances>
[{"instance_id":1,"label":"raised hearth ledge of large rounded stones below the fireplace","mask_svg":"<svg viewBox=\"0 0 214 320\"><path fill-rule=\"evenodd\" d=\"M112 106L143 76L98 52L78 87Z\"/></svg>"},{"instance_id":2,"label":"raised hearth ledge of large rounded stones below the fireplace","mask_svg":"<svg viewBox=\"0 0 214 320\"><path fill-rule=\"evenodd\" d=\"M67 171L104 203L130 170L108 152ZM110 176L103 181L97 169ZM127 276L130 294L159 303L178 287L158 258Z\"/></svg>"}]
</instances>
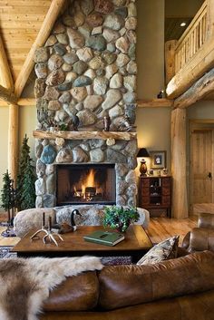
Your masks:
<instances>
[{"instance_id":1,"label":"raised hearth ledge of large rounded stones below the fireplace","mask_svg":"<svg viewBox=\"0 0 214 320\"><path fill-rule=\"evenodd\" d=\"M77 208L82 217L75 216L74 220L78 226L101 226L104 215L104 208L102 205L76 205L56 208L29 208L19 211L14 220L15 233L22 238L31 228L41 228L42 214L45 212L46 224L48 217L52 217L53 223L70 223L71 213L74 208ZM140 218L135 224L142 225L148 228L150 221L150 213L144 208L138 208Z\"/></svg>"}]
</instances>

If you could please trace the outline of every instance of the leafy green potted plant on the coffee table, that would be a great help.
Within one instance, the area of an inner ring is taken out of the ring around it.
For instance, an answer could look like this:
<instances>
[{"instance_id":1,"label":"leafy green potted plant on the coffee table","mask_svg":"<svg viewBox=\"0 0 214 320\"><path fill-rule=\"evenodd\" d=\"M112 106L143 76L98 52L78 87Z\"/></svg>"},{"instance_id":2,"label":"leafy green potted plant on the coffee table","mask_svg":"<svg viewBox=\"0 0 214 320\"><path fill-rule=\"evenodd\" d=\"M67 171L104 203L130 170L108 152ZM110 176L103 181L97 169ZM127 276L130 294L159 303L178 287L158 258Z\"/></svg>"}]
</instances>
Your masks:
<instances>
[{"instance_id":1,"label":"leafy green potted plant on the coffee table","mask_svg":"<svg viewBox=\"0 0 214 320\"><path fill-rule=\"evenodd\" d=\"M132 222L140 218L137 208L110 206L104 208L103 226L125 232Z\"/></svg>"}]
</instances>

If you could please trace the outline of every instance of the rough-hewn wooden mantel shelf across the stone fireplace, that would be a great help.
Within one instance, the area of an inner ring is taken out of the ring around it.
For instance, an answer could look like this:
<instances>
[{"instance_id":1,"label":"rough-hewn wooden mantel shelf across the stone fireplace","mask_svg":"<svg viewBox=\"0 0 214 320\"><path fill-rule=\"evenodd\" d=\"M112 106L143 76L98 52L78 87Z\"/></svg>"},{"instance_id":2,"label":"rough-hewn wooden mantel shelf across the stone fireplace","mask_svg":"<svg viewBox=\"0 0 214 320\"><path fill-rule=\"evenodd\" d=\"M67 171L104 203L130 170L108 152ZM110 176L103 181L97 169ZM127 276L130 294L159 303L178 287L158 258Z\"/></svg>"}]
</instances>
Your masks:
<instances>
[{"instance_id":1,"label":"rough-hewn wooden mantel shelf across the stone fireplace","mask_svg":"<svg viewBox=\"0 0 214 320\"><path fill-rule=\"evenodd\" d=\"M56 139L63 138L67 140L82 140L82 139L115 139L131 141L137 139L137 132L124 131L33 131L36 139Z\"/></svg>"}]
</instances>

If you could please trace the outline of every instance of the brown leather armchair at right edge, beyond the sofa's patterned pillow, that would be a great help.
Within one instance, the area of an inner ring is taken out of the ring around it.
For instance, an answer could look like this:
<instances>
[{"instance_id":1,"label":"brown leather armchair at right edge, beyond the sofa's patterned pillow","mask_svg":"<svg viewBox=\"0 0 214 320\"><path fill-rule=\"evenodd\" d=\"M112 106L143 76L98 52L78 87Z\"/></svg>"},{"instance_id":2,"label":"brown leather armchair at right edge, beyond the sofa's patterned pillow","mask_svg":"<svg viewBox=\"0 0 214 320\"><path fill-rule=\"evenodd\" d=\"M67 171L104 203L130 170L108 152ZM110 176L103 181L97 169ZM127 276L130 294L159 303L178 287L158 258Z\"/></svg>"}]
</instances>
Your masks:
<instances>
[{"instance_id":1,"label":"brown leather armchair at right edge, beyond the sofa's patterned pillow","mask_svg":"<svg viewBox=\"0 0 214 320\"><path fill-rule=\"evenodd\" d=\"M214 214L200 213L198 228L192 228L184 237L182 247L188 252L214 251Z\"/></svg>"}]
</instances>

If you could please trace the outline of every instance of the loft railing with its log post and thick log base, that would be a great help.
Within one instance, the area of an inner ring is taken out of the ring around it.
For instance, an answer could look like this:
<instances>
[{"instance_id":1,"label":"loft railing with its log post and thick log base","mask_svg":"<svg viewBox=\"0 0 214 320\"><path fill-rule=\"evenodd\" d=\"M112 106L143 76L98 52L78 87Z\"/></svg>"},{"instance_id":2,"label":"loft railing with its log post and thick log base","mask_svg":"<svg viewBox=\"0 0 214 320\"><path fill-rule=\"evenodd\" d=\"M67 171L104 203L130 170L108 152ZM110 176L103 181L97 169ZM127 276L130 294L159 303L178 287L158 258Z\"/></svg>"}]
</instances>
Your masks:
<instances>
[{"instance_id":1,"label":"loft railing with its log post and thick log base","mask_svg":"<svg viewBox=\"0 0 214 320\"><path fill-rule=\"evenodd\" d=\"M214 0L205 0L184 34L165 44L166 93L178 98L214 68Z\"/></svg>"}]
</instances>

